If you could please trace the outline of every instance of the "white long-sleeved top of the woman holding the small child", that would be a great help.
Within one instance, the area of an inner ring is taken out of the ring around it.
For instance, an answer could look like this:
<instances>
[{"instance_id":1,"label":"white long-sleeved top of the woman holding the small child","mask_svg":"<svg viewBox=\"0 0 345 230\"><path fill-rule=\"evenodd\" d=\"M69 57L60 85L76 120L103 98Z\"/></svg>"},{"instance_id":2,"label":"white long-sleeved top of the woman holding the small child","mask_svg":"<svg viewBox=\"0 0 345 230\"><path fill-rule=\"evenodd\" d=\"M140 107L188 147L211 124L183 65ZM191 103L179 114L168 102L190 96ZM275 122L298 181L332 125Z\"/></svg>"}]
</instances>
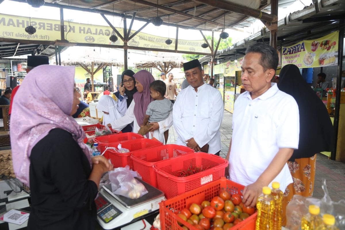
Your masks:
<instances>
[{"instance_id":1,"label":"white long-sleeved top of the woman holding the small child","mask_svg":"<svg viewBox=\"0 0 345 230\"><path fill-rule=\"evenodd\" d=\"M130 103L125 116L112 121L111 128L115 130L122 130L127 126L127 124L130 124L133 122L133 132L138 133L140 129L140 124L138 124L136 117L134 116L134 105L135 102L132 100ZM160 142L165 144L165 139L164 139L164 132L170 128L172 125L172 112L170 112L169 117L163 121L159 121L159 129L155 130L153 134L151 135L151 132L149 132L149 138L151 139L152 137L156 138ZM144 136L146 137L146 136Z\"/></svg>"}]
</instances>

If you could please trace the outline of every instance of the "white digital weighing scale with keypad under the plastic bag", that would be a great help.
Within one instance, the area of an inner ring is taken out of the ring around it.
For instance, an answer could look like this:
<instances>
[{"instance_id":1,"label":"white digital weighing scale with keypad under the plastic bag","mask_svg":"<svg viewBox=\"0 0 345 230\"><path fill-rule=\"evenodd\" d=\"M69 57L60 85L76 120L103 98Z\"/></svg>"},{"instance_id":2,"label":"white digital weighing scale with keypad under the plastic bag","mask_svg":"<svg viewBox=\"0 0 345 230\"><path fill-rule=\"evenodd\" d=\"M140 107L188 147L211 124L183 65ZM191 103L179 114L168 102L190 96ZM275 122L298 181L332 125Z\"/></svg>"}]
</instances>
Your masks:
<instances>
[{"instance_id":1,"label":"white digital weighing scale with keypad under the plastic bag","mask_svg":"<svg viewBox=\"0 0 345 230\"><path fill-rule=\"evenodd\" d=\"M97 221L103 229L114 229L142 219L142 216L159 209L165 200L164 192L136 178L146 187L148 193L138 199L112 193L111 184L103 186L95 200Z\"/></svg>"}]
</instances>

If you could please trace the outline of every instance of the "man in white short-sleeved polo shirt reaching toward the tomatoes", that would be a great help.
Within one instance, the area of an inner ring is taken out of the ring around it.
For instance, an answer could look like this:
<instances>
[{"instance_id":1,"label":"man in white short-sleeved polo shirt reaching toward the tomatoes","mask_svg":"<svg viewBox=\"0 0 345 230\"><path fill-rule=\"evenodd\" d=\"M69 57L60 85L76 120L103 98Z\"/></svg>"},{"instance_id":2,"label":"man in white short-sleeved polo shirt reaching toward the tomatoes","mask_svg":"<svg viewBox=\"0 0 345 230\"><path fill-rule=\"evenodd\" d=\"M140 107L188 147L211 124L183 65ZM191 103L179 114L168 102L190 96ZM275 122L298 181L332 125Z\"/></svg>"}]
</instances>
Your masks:
<instances>
[{"instance_id":1,"label":"man in white short-sleeved polo shirt reaching toward the tomatoes","mask_svg":"<svg viewBox=\"0 0 345 230\"><path fill-rule=\"evenodd\" d=\"M299 113L295 99L271 83L276 50L264 43L248 47L241 80L246 92L235 101L233 138L226 159L230 180L243 184L243 203L254 207L264 186L292 183L287 166L298 148Z\"/></svg>"}]
</instances>

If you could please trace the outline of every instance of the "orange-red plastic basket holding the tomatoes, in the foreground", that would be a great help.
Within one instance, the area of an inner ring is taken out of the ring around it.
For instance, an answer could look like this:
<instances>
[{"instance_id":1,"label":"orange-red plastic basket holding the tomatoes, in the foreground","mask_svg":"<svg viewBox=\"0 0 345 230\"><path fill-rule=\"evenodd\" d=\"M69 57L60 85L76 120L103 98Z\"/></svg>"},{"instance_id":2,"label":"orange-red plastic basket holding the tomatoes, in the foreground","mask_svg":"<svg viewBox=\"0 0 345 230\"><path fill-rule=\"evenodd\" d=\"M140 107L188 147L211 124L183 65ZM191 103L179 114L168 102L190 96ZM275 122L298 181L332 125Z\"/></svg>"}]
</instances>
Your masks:
<instances>
[{"instance_id":1,"label":"orange-red plastic basket holding the tomatoes, in the foreground","mask_svg":"<svg viewBox=\"0 0 345 230\"><path fill-rule=\"evenodd\" d=\"M178 213L184 208L189 208L189 206L192 203L200 204L204 200L211 201L212 198L218 196L220 189L223 188L230 194L238 193L242 196L242 190L244 189L244 186L233 181L227 180L225 177L222 177L219 180L210 182L201 187L196 187L196 189L188 191L177 197L173 197L171 199L160 202L159 213L161 230L183 230L183 228L179 226L177 221L183 223L183 225L186 226L189 230L197 230L195 227L191 226L191 224L189 224L187 221L184 221L181 218L179 218L176 215L176 213ZM254 213L252 216L236 224L233 228L231 228L231 230L255 230L256 218L257 213Z\"/></svg>"}]
</instances>

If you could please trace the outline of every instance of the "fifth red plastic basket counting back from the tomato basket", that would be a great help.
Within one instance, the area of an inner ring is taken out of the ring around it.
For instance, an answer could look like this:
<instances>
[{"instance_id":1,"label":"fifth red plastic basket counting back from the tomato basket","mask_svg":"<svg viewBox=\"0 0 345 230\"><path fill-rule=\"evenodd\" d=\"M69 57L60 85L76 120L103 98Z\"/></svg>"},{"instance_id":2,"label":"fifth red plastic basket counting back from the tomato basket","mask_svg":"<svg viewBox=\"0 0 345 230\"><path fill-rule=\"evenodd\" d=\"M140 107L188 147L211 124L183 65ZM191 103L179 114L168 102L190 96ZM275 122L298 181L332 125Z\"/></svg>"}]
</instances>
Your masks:
<instances>
[{"instance_id":1,"label":"fifth red plastic basket counting back from the tomato basket","mask_svg":"<svg viewBox=\"0 0 345 230\"><path fill-rule=\"evenodd\" d=\"M118 133L112 134L107 136L96 137L94 142L98 143L99 151L102 153L106 150L106 146L112 143L117 143L121 141L128 141L134 139L142 139L144 138L142 135L134 132L125 132L125 133Z\"/></svg>"}]
</instances>

